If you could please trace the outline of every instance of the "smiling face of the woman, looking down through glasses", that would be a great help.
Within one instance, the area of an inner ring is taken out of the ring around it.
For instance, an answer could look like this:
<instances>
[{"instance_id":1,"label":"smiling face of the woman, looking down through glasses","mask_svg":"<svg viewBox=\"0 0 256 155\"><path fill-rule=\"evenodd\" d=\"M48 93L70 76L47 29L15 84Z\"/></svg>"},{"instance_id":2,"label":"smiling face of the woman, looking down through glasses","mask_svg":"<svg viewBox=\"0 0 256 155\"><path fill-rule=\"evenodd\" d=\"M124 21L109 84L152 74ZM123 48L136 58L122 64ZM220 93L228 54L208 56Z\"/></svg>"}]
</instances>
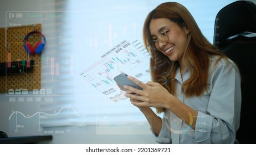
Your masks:
<instances>
[{"instance_id":1,"label":"smiling face of the woman, looking down through glasses","mask_svg":"<svg viewBox=\"0 0 256 155\"><path fill-rule=\"evenodd\" d=\"M151 39L155 40L158 51L165 54L171 61L179 61L185 53L187 34L186 27L180 27L167 18L152 19L149 25ZM168 35L164 42L164 35Z\"/></svg>"}]
</instances>

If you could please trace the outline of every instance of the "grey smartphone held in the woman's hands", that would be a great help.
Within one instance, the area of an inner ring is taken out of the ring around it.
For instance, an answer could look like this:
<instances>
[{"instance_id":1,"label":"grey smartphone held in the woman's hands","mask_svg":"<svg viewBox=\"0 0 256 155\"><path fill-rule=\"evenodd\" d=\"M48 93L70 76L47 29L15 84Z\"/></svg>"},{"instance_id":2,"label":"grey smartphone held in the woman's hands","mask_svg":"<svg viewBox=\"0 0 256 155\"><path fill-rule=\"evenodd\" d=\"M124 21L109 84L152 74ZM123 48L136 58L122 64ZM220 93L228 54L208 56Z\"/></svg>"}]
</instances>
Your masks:
<instances>
[{"instance_id":1,"label":"grey smartphone held in the woman's hands","mask_svg":"<svg viewBox=\"0 0 256 155\"><path fill-rule=\"evenodd\" d=\"M135 87L136 89L140 89L142 90L142 88L140 86L138 86L137 84L135 84L135 82L129 80L127 78L127 74L125 73L121 73L117 76L114 77L114 80L119 84L121 85L122 87L124 87L124 85L127 85L127 86L132 86L132 87Z\"/></svg>"}]
</instances>

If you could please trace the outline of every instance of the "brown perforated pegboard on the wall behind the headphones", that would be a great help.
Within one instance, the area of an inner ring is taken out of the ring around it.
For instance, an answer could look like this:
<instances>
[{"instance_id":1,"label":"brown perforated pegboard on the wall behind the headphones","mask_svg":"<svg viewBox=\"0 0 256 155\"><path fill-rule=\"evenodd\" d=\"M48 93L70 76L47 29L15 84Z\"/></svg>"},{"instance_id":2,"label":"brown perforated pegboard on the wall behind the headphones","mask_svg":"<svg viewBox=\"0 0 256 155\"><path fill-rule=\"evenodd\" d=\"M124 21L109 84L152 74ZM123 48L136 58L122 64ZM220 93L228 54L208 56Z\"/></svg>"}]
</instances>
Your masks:
<instances>
[{"instance_id":1,"label":"brown perforated pegboard on the wall behind the headphones","mask_svg":"<svg viewBox=\"0 0 256 155\"><path fill-rule=\"evenodd\" d=\"M8 93L9 90L17 89L40 89L41 88L41 55L29 55L23 46L23 39L33 31L42 32L41 24L34 24L32 26L19 26L10 28L0 28L0 63L11 61L32 61L32 71L29 73L13 73L6 76L0 76L0 92ZM38 42L42 42L40 34L31 35L27 42L34 46ZM12 64L12 67L16 67Z\"/></svg>"}]
</instances>

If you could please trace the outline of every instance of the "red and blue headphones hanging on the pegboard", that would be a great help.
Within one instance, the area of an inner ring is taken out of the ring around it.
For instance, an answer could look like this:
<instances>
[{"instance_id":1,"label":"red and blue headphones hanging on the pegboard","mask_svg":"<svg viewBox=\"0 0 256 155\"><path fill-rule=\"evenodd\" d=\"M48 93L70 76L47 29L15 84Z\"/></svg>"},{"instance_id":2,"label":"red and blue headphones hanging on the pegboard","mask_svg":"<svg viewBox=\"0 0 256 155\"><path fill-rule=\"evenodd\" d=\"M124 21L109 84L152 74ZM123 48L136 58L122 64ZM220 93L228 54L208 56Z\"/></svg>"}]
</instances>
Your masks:
<instances>
[{"instance_id":1,"label":"red and blue headphones hanging on the pegboard","mask_svg":"<svg viewBox=\"0 0 256 155\"><path fill-rule=\"evenodd\" d=\"M42 42L38 42L34 47L32 47L28 41L28 38L30 35L32 34L40 34L42 35L43 39L44 39L44 43ZM33 31L33 32L29 32L23 39L23 46L24 46L24 49L30 54L30 55L34 55L35 53L36 54L41 54L42 53L42 50L44 49L44 45L46 43L46 39L44 37L44 35L38 31Z\"/></svg>"}]
</instances>

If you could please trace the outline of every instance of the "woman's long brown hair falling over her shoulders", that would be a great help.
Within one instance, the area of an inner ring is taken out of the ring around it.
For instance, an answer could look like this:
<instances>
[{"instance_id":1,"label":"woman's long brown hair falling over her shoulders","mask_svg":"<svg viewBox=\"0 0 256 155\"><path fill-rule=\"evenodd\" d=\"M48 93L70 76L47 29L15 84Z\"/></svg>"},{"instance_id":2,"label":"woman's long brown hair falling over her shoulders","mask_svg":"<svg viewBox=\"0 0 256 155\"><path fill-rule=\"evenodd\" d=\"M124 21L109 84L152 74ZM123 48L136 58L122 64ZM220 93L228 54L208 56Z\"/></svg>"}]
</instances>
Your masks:
<instances>
[{"instance_id":1,"label":"woman's long brown hair falling over her shoulders","mask_svg":"<svg viewBox=\"0 0 256 155\"><path fill-rule=\"evenodd\" d=\"M152 19L166 18L178 24L179 27L187 27L190 30L187 39L185 53L183 54L183 65L190 71L190 78L182 85L182 92L186 97L200 96L207 91L207 79L209 70L209 56L218 55L219 59L225 58L216 46L208 42L199 29L191 13L181 4L176 2L162 3L151 11L145 19L143 28L143 40L147 51L151 55L150 69L151 79L162 83L165 77L165 87L172 95L176 95L175 75L179 67L178 61L171 61L166 55L158 50L147 46L151 42L149 25ZM164 112L164 108L156 108L157 112Z\"/></svg>"}]
</instances>

